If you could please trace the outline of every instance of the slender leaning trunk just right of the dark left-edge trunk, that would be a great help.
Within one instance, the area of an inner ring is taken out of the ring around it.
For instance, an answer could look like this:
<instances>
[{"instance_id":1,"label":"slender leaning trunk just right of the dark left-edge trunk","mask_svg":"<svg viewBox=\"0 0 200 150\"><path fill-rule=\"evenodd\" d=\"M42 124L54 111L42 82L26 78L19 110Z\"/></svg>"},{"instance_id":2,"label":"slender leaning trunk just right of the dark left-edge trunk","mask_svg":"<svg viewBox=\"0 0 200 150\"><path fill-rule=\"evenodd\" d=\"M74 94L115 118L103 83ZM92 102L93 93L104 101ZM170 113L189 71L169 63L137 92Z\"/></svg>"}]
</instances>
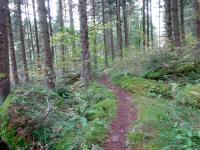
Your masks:
<instances>
[{"instance_id":1,"label":"slender leaning trunk just right of the dark left-edge trunk","mask_svg":"<svg viewBox=\"0 0 200 150\"><path fill-rule=\"evenodd\" d=\"M8 12L8 33L9 33L9 50L10 50L10 59L11 59L11 71L13 75L13 82L17 84L19 82L16 55L15 55L15 46L13 40L13 31L12 31L12 22L10 11Z\"/></svg>"}]
</instances>

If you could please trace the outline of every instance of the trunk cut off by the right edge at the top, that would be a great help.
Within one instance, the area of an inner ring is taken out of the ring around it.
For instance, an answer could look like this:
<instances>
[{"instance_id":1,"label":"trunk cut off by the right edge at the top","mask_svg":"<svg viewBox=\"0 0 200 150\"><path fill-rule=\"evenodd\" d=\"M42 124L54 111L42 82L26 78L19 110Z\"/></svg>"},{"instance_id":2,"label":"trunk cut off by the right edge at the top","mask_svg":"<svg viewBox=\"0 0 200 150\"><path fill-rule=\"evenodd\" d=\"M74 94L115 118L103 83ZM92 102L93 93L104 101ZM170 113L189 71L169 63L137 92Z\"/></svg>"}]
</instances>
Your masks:
<instances>
[{"instance_id":1,"label":"trunk cut off by the right edge at the top","mask_svg":"<svg viewBox=\"0 0 200 150\"><path fill-rule=\"evenodd\" d=\"M197 33L197 38L200 40L200 2L199 0L194 0L194 13L195 13L195 29Z\"/></svg>"}]
</instances>

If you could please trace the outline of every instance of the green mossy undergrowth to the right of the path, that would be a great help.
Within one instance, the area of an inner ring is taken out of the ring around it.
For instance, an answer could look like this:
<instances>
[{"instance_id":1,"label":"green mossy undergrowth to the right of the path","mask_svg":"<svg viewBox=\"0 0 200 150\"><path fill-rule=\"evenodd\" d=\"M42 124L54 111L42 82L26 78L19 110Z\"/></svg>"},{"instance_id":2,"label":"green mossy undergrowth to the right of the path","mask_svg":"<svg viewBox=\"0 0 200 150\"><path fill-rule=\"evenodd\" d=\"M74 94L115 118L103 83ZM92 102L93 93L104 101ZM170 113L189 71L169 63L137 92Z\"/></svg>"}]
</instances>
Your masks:
<instances>
[{"instance_id":1,"label":"green mossy undergrowth to the right of the path","mask_svg":"<svg viewBox=\"0 0 200 150\"><path fill-rule=\"evenodd\" d=\"M134 95L138 118L128 134L132 149L200 149L199 85L178 87L127 73L111 76Z\"/></svg>"}]
</instances>

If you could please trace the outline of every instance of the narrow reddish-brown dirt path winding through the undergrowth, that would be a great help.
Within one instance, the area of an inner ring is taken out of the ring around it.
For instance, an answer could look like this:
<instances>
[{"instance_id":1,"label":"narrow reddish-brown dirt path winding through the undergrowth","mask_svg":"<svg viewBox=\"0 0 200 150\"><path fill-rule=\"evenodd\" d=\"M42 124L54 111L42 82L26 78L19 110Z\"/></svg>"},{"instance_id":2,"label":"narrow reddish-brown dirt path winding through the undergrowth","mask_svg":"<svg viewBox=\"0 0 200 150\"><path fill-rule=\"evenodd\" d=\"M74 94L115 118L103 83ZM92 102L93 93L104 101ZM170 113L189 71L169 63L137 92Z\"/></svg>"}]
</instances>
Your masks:
<instances>
[{"instance_id":1,"label":"narrow reddish-brown dirt path winding through the undergrowth","mask_svg":"<svg viewBox=\"0 0 200 150\"><path fill-rule=\"evenodd\" d=\"M137 111L133 106L131 95L113 85L108 75L104 75L100 83L111 89L118 100L118 111L116 118L109 127L109 136L105 143L104 150L126 150L126 141L129 126L137 118Z\"/></svg>"}]
</instances>

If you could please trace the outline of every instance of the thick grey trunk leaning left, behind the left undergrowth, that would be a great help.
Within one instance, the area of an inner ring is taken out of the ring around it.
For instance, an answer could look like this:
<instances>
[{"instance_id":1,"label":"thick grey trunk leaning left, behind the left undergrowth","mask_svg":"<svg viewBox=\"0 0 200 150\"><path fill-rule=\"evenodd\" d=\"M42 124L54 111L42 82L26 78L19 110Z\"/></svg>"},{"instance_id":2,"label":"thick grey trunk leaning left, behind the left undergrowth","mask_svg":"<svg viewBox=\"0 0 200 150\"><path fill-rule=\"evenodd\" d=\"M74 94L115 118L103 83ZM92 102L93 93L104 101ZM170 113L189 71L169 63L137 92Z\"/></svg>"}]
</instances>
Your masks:
<instances>
[{"instance_id":1,"label":"thick grey trunk leaning left, behind the left undergrowth","mask_svg":"<svg viewBox=\"0 0 200 150\"><path fill-rule=\"evenodd\" d=\"M47 23L47 10L45 1L37 0L39 27L41 34L42 49L45 53L45 81L49 89L55 88L55 73L53 69L53 56L50 47L50 36Z\"/></svg>"}]
</instances>

